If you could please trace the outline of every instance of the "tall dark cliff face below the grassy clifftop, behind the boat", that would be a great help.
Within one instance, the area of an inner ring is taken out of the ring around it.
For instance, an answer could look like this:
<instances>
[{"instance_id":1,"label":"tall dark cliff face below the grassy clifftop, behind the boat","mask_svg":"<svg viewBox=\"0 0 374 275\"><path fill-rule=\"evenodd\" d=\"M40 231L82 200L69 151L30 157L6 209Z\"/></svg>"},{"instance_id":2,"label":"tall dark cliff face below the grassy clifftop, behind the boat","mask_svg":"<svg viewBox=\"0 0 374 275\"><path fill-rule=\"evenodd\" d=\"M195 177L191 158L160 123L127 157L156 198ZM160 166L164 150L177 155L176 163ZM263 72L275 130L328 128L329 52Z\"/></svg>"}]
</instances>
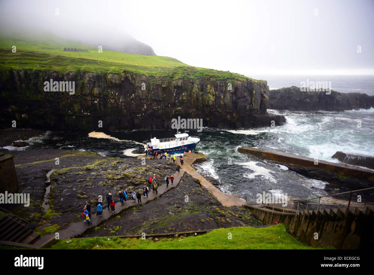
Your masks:
<instances>
[{"instance_id":1,"label":"tall dark cliff face below the grassy clifftop, behind the boat","mask_svg":"<svg viewBox=\"0 0 374 275\"><path fill-rule=\"evenodd\" d=\"M65 71L1 71L1 126L71 130L171 129L173 118L202 118L203 127L276 126L266 113L266 81L196 80ZM44 81L75 81L75 93L45 92ZM232 82L232 90L228 90ZM144 83L144 84L143 84ZM99 128L102 121L102 128Z\"/></svg>"}]
</instances>

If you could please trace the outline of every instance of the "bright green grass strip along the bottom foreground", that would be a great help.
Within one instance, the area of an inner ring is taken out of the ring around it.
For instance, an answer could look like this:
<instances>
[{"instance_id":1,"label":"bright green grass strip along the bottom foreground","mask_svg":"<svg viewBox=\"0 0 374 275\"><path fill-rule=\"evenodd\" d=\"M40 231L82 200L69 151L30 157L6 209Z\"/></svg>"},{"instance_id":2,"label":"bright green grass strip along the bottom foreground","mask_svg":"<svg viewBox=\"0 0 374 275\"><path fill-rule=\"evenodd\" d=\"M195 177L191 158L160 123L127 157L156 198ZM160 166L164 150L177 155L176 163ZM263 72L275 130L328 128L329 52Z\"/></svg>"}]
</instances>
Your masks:
<instances>
[{"instance_id":1,"label":"bright green grass strip along the bottom foreground","mask_svg":"<svg viewBox=\"0 0 374 275\"><path fill-rule=\"evenodd\" d=\"M284 225L283 225L284 226ZM111 231L110 233L114 233ZM232 240L228 239L229 233ZM96 247L96 245L98 245ZM267 228L235 227L214 229L196 237L160 241L138 238L84 238L59 240L52 249L321 249L307 246L287 234L281 225ZM331 247L329 247L331 248Z\"/></svg>"}]
</instances>

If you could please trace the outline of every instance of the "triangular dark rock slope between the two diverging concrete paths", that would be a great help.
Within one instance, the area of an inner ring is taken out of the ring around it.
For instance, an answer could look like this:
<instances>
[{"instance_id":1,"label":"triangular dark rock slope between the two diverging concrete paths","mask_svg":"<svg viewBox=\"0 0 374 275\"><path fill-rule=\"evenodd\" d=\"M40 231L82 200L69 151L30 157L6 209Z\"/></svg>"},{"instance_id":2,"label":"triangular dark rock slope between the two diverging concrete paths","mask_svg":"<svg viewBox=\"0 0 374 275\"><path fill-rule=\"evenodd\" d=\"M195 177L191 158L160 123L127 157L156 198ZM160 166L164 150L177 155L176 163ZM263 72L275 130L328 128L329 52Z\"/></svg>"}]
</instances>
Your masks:
<instances>
[{"instance_id":1,"label":"triangular dark rock slope between the two diverging concrete paths","mask_svg":"<svg viewBox=\"0 0 374 275\"><path fill-rule=\"evenodd\" d=\"M186 174L177 187L144 206L108 220L85 237L140 235L142 232L165 234L248 225L261 223L244 207L223 207L200 186L198 179Z\"/></svg>"}]
</instances>

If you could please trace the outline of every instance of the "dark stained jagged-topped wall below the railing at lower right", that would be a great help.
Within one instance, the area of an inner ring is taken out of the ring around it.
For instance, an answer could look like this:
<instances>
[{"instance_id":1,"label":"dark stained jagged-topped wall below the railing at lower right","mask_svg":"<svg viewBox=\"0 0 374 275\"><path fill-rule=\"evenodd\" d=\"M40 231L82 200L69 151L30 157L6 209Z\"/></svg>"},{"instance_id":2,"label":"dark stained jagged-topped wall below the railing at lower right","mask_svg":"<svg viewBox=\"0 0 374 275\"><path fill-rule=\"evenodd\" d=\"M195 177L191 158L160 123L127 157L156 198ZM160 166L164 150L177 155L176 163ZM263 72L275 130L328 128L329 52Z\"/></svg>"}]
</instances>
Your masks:
<instances>
[{"instance_id":1,"label":"dark stained jagged-topped wall below the railing at lower right","mask_svg":"<svg viewBox=\"0 0 374 275\"><path fill-rule=\"evenodd\" d=\"M298 214L258 206L246 205L246 208L266 224L284 223L292 235L314 247L362 249L371 248L374 242L374 212L370 208L364 211L356 208L346 213L328 209L299 211Z\"/></svg>"}]
</instances>

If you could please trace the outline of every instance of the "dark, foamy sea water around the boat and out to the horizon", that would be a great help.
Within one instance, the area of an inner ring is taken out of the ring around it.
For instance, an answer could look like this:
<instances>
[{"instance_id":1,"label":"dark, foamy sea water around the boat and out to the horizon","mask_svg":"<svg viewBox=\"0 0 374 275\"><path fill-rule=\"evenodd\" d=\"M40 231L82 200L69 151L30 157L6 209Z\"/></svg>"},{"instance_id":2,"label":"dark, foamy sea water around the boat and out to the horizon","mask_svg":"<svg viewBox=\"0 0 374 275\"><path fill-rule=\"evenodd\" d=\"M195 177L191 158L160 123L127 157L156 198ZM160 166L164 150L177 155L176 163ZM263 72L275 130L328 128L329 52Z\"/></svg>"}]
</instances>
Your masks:
<instances>
[{"instance_id":1,"label":"dark, foamy sea water around the boat and out to the horizon","mask_svg":"<svg viewBox=\"0 0 374 275\"><path fill-rule=\"evenodd\" d=\"M295 83L299 81L298 79L285 78L283 81L276 80L276 78L265 79L269 80L270 89L299 86ZM309 79L313 80L313 78ZM374 87L373 78L355 76L352 77L355 79L352 82L347 82L349 78L346 76L341 79L342 81L345 79L345 82L339 84L343 88L337 89L333 86L332 89L341 92L361 89L359 92L373 94L371 90ZM334 78L334 82L339 83L338 77ZM342 83L345 83L345 86ZM248 200L256 200L256 194L263 191L279 195L287 193L289 198L311 198L327 195L324 190L327 183L303 177L288 170L285 166L241 154L237 152L237 148L249 146L276 149L332 162L338 162L331 158L336 151L374 155L373 108L342 112L268 109L268 112L284 115L287 124L258 129L224 130L204 127L202 132L182 130L181 132L200 137L201 141L196 151L208 157L208 161L198 164L196 169L205 176L217 179L222 191ZM149 141L151 137L173 137L174 134L175 130L108 131L91 134L89 132L47 132L45 135L28 140L30 146L25 148L13 146L5 148L28 150L49 147L92 151L112 157L130 157L143 153L144 148L141 144Z\"/></svg>"}]
</instances>

